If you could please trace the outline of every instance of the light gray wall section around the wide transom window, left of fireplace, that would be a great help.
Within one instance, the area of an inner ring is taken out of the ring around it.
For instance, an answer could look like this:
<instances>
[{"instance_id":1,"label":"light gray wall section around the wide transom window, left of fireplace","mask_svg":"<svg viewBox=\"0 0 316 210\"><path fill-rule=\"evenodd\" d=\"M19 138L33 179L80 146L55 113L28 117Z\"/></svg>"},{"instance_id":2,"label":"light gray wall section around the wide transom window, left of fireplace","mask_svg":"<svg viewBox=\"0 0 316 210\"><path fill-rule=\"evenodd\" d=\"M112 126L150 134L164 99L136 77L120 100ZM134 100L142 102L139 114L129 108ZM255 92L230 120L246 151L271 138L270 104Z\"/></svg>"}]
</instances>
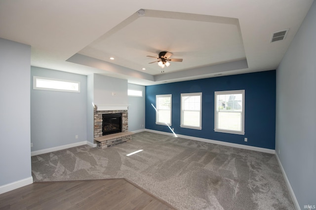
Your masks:
<instances>
[{"instance_id":1,"label":"light gray wall section around the wide transom window, left of fireplace","mask_svg":"<svg viewBox=\"0 0 316 210\"><path fill-rule=\"evenodd\" d=\"M33 90L33 76L78 81L80 92ZM30 79L32 151L86 141L87 77L32 66Z\"/></svg>"}]
</instances>

